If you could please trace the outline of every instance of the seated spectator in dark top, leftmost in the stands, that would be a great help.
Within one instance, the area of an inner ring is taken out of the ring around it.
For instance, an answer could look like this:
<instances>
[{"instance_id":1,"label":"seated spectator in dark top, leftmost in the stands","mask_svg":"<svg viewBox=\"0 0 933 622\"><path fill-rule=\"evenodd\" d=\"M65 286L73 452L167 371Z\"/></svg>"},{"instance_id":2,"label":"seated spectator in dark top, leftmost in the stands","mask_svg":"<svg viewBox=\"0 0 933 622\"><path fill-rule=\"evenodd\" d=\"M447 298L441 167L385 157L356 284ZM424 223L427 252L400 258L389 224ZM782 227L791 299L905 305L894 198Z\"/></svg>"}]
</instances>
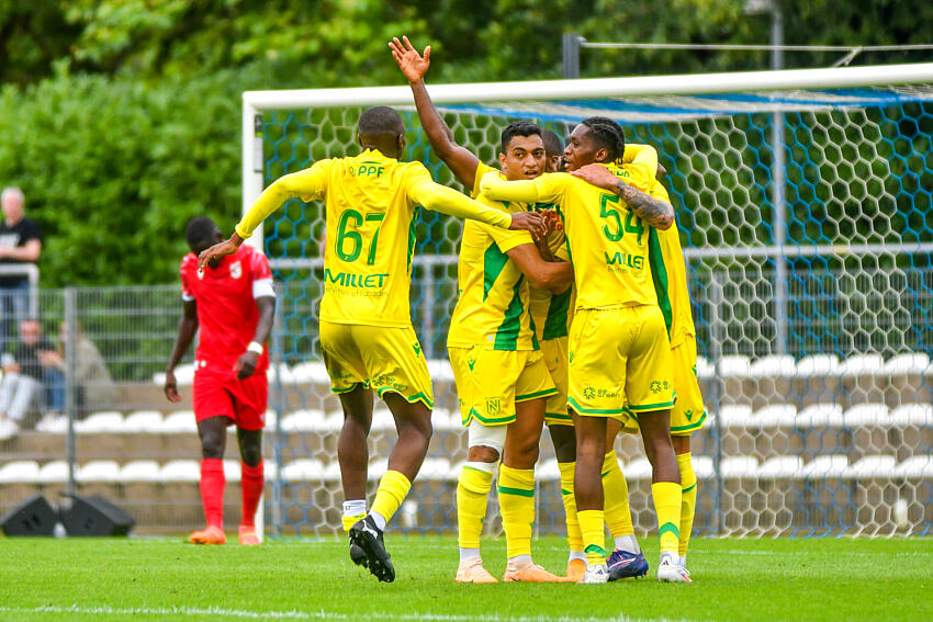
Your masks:
<instances>
[{"instance_id":1,"label":"seated spectator in dark top, leftmost in the stands","mask_svg":"<svg viewBox=\"0 0 933 622\"><path fill-rule=\"evenodd\" d=\"M45 406L50 411L65 409L65 375L61 355L42 335L36 319L20 323L20 342L12 354L3 357L3 381L0 383L0 419L11 419L20 427L31 427L31 408L45 389Z\"/></svg>"}]
</instances>

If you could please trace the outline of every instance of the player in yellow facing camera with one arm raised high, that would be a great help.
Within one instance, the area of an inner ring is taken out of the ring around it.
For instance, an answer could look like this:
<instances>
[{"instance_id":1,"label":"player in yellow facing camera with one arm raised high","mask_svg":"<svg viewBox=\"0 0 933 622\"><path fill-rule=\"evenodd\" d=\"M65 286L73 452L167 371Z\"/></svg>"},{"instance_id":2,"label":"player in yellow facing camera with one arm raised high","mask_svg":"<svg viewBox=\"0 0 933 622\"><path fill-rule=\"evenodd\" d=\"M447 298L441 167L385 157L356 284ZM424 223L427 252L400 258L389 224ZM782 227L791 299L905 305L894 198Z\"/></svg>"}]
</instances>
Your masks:
<instances>
[{"instance_id":1,"label":"player in yellow facing camera with one arm raised high","mask_svg":"<svg viewBox=\"0 0 933 622\"><path fill-rule=\"evenodd\" d=\"M516 122L503 131L498 158L502 173L454 143L425 88L430 48L421 56L407 37L394 39L390 47L408 78L431 147L473 196L479 194L479 181L486 172L505 179L533 179L544 172L541 131L530 123ZM482 196L479 200L485 201ZM509 212L525 208L515 203L487 204ZM496 581L483 567L480 534L499 460L498 499L508 555L503 580L561 580L531 557L535 463L546 399L557 388L528 313L528 282L561 292L569 289L572 274L569 263L543 261L528 235L496 231L480 223L466 223L463 228L458 263L460 297L448 335L469 445L457 487L458 583Z\"/></svg>"}]
</instances>

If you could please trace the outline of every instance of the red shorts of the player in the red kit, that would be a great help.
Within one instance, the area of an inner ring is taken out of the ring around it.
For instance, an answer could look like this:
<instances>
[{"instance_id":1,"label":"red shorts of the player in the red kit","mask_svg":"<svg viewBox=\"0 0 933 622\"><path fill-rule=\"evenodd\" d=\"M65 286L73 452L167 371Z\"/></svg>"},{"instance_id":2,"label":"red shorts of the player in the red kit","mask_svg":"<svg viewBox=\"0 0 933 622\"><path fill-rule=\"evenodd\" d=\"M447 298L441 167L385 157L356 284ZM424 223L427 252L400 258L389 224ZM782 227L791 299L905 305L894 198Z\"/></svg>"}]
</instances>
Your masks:
<instances>
[{"instance_id":1,"label":"red shorts of the player in the red kit","mask_svg":"<svg viewBox=\"0 0 933 622\"><path fill-rule=\"evenodd\" d=\"M261 430L266 426L269 381L266 372L237 380L234 372L201 369L194 373L194 419L226 417L228 426Z\"/></svg>"}]
</instances>

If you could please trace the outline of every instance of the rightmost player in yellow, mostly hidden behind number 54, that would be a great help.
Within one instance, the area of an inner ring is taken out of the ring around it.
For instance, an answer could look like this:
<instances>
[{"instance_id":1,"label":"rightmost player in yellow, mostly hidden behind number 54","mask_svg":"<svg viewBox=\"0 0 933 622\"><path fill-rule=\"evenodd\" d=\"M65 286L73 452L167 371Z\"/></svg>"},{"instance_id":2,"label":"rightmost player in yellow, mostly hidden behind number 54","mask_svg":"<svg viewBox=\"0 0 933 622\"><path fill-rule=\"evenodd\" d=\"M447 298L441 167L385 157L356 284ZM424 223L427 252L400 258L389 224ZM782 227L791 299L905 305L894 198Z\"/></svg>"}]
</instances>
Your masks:
<instances>
[{"instance_id":1,"label":"rightmost player in yellow, mostly hidden behind number 54","mask_svg":"<svg viewBox=\"0 0 933 622\"><path fill-rule=\"evenodd\" d=\"M640 146L629 146L629 148L638 147ZM629 148L626 149L627 158ZM576 174L605 190L611 192L617 190L619 180L611 169L587 166L580 169ZM652 184L650 194L665 203L671 203L667 190L656 179ZM683 487L678 553L679 564L686 573L687 547L693 531L697 499L697 477L690 460L690 434L702 428L706 421L706 408L697 382L696 328L690 313L684 252L681 248L681 237L676 226L666 230L656 230L649 238L649 261L657 292L657 303L667 325L671 354L674 359L674 389L677 393L677 403L671 411L671 437L674 443L674 452L677 455ZM638 416L630 415L630 419L626 421L625 430L638 433ZM615 436L612 430L610 430L610 436ZM628 512L628 508L626 511ZM689 576L688 573L686 574Z\"/></svg>"}]
</instances>

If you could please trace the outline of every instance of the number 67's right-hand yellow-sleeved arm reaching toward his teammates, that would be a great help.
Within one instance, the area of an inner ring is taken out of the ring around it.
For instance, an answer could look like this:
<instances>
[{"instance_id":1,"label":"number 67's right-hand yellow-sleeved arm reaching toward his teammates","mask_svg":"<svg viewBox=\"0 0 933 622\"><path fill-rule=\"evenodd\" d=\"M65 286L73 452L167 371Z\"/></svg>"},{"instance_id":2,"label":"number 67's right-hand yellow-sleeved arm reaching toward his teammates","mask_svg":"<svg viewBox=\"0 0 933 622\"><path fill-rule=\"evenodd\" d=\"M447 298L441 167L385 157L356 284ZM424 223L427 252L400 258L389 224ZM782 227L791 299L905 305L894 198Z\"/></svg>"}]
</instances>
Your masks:
<instances>
[{"instance_id":1,"label":"number 67's right-hand yellow-sleeved arm reaching toward his teammates","mask_svg":"<svg viewBox=\"0 0 933 622\"><path fill-rule=\"evenodd\" d=\"M548 226L541 214L535 212L507 214L487 207L452 188L435 183L430 179L421 179L413 183L409 196L415 203L428 210L450 214L458 218L472 218L501 229L526 230L531 234L533 239L548 235Z\"/></svg>"}]
</instances>

